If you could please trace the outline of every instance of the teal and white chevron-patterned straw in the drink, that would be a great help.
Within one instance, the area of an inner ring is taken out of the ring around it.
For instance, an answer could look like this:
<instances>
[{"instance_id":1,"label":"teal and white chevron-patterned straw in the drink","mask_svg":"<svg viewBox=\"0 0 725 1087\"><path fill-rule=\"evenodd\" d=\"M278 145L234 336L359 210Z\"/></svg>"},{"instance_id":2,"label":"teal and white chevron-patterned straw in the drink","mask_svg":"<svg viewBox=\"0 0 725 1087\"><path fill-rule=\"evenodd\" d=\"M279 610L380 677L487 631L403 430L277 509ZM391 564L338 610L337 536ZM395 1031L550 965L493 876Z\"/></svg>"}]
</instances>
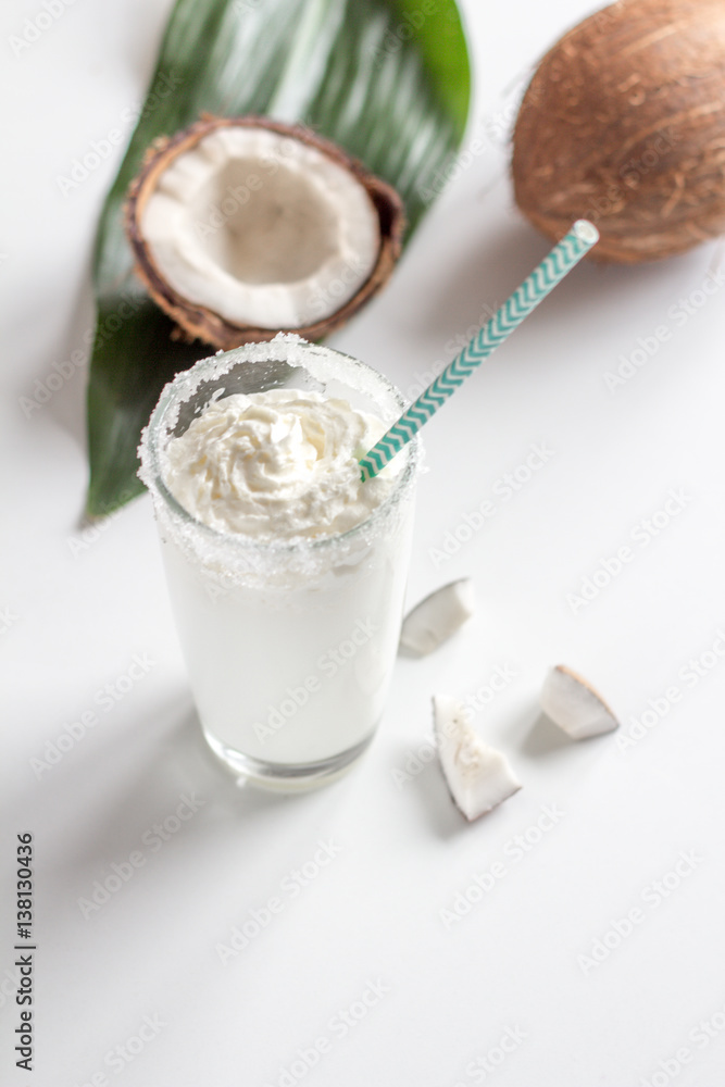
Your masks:
<instances>
[{"instance_id":1,"label":"teal and white chevron-patterned straw in the drink","mask_svg":"<svg viewBox=\"0 0 725 1087\"><path fill-rule=\"evenodd\" d=\"M535 267L511 298L476 333L471 342L443 370L417 400L403 412L377 445L360 461L362 478L377 475L413 435L417 434L460 385L487 359L522 321L553 290L567 272L599 240L597 227L586 218L576 221L572 229Z\"/></svg>"}]
</instances>

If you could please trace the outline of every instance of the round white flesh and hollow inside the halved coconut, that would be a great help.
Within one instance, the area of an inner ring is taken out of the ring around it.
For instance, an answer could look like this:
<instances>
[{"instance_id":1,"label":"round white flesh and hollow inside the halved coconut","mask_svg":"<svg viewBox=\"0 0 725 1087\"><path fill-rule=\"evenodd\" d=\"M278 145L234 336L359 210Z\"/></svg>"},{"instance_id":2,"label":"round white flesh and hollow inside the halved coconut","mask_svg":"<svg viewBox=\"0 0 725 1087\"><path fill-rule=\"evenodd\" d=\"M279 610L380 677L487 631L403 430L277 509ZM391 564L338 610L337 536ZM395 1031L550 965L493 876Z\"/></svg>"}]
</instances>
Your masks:
<instances>
[{"instance_id":1,"label":"round white flesh and hollow inside the halved coconut","mask_svg":"<svg viewBox=\"0 0 725 1087\"><path fill-rule=\"evenodd\" d=\"M220 128L174 159L140 226L179 295L259 328L336 313L380 245L373 202L350 171L262 128Z\"/></svg>"}]
</instances>

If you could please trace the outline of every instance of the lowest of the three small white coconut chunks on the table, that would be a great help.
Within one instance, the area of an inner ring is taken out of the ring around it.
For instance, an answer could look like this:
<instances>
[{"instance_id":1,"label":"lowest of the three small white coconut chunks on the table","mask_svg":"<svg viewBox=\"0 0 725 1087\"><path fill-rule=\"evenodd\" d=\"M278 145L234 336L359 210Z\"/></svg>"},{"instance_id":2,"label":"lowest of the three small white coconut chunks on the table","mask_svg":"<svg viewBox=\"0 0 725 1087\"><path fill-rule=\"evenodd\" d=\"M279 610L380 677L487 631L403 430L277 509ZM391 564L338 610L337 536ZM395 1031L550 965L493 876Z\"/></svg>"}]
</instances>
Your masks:
<instances>
[{"instance_id":1,"label":"lowest of the three small white coconut chunks on the table","mask_svg":"<svg viewBox=\"0 0 725 1087\"><path fill-rule=\"evenodd\" d=\"M448 788L467 820L478 819L521 788L501 751L484 744L468 724L462 702L436 695L433 720L438 757Z\"/></svg>"}]
</instances>

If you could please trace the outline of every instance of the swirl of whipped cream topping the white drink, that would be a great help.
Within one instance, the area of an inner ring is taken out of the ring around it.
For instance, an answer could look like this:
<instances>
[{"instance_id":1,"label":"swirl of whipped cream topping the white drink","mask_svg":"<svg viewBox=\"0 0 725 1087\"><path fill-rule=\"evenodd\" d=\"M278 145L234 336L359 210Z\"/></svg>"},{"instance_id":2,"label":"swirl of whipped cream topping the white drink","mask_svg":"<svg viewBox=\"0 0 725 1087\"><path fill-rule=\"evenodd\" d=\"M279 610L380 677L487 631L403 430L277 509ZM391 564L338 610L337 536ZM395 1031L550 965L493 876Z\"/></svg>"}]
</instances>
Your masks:
<instances>
[{"instance_id":1,"label":"swirl of whipped cream topping the white drink","mask_svg":"<svg viewBox=\"0 0 725 1087\"><path fill-rule=\"evenodd\" d=\"M165 482L217 532L260 540L333 536L389 493L395 462L364 484L358 463L386 429L347 400L318 392L236 393L210 403L168 442Z\"/></svg>"}]
</instances>

